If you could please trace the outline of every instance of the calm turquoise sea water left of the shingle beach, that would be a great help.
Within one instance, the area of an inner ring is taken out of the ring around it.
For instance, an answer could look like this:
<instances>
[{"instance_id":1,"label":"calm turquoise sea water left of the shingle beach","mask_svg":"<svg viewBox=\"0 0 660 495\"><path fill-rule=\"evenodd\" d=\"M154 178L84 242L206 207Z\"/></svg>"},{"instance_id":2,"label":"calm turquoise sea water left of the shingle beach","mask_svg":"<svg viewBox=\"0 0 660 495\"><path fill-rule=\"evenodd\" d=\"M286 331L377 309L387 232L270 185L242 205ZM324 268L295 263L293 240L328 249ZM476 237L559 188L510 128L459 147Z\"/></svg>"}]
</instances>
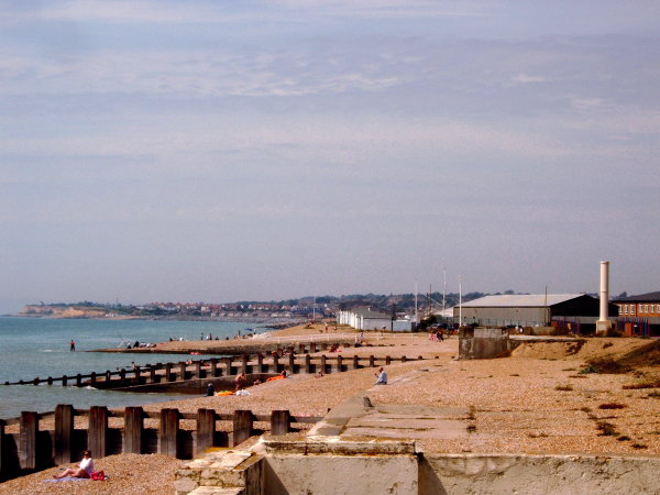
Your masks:
<instances>
[{"instance_id":1,"label":"calm turquoise sea water left of the shingle beach","mask_svg":"<svg viewBox=\"0 0 660 495\"><path fill-rule=\"evenodd\" d=\"M117 348L122 340L163 342L172 338L199 340L211 333L221 339L245 333L250 323L168 320L51 320L42 318L0 317L0 384L62 375L105 372L131 367L131 362L146 363L178 361L172 354L123 354L84 352L92 349ZM70 340L76 352L69 351ZM205 358L195 356L195 359ZM163 394L105 392L61 385L0 385L0 418L11 418L22 410L50 411L57 404L122 407L156 403L179 397Z\"/></svg>"}]
</instances>

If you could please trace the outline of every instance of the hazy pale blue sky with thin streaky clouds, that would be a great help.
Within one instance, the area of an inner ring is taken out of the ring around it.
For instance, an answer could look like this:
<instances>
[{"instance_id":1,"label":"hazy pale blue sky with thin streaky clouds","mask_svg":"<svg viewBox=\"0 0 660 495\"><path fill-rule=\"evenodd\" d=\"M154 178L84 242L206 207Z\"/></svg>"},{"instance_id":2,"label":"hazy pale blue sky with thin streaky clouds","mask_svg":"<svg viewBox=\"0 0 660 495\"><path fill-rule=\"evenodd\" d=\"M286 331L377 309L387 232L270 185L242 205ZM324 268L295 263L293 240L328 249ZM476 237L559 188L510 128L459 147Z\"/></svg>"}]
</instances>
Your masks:
<instances>
[{"instance_id":1,"label":"hazy pale blue sky with thin streaky clouds","mask_svg":"<svg viewBox=\"0 0 660 495\"><path fill-rule=\"evenodd\" d=\"M660 290L657 1L0 2L0 312Z\"/></svg>"}]
</instances>

